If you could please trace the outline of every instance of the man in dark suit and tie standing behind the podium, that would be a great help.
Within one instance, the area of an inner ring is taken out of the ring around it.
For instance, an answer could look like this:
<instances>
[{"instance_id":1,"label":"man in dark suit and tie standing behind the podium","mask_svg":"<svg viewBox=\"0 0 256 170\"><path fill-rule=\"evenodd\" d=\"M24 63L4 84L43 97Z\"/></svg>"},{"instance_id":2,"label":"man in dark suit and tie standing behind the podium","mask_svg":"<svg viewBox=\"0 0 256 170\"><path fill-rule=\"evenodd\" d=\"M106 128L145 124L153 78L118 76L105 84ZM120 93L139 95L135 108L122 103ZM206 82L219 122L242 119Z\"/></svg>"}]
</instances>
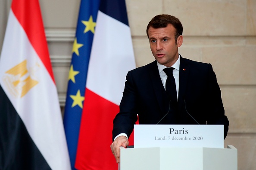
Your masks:
<instances>
[{"instance_id":1,"label":"man in dark suit and tie standing behind the podium","mask_svg":"<svg viewBox=\"0 0 256 170\"><path fill-rule=\"evenodd\" d=\"M224 124L227 136L229 121L212 65L181 57L182 31L179 19L171 15L157 15L147 26L156 61L126 76L120 112L113 121L111 149L117 163L119 146L128 146L137 115L139 124ZM172 67L171 73L166 67ZM168 92L171 80L174 91Z\"/></svg>"}]
</instances>

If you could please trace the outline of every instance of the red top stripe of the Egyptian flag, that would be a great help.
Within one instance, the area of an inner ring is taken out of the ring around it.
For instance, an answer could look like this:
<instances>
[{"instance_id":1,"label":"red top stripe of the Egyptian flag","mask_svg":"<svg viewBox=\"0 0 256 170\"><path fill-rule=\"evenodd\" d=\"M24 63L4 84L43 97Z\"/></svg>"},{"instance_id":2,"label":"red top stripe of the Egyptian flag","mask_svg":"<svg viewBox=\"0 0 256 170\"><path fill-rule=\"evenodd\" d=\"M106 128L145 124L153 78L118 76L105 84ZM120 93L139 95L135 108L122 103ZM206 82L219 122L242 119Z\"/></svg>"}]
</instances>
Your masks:
<instances>
[{"instance_id":1,"label":"red top stripe of the Egyptian flag","mask_svg":"<svg viewBox=\"0 0 256 170\"><path fill-rule=\"evenodd\" d=\"M38 0L12 0L12 12L25 30L31 45L54 80L41 9ZM26 10L29 9L29 10ZM32 14L32 15L31 15ZM42 41L41 41L42 40Z\"/></svg>"}]
</instances>

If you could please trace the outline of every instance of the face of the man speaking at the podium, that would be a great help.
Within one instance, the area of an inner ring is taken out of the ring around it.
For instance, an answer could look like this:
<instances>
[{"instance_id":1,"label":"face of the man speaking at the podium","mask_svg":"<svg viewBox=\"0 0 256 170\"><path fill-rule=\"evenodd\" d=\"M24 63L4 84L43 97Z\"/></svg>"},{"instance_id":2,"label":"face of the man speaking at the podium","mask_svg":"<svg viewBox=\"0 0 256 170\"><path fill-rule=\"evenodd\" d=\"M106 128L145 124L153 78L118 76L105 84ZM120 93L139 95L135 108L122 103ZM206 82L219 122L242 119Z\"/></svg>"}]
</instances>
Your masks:
<instances>
[{"instance_id":1,"label":"face of the man speaking at the podium","mask_svg":"<svg viewBox=\"0 0 256 170\"><path fill-rule=\"evenodd\" d=\"M175 43L176 29L171 24L165 28L148 29L150 49L156 61L166 67L171 67L178 60L178 47L183 42L183 37L179 36Z\"/></svg>"}]
</instances>

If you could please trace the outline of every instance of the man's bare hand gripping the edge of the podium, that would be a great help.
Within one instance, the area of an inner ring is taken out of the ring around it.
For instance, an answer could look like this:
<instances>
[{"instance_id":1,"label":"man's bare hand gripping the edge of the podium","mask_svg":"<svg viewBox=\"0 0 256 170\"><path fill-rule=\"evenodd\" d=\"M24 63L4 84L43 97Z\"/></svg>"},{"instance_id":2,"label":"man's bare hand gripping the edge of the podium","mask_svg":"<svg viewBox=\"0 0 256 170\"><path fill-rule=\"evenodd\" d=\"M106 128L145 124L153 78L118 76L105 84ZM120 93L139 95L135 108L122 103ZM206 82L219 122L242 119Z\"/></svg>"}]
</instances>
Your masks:
<instances>
[{"instance_id":1,"label":"man's bare hand gripping the edge of the podium","mask_svg":"<svg viewBox=\"0 0 256 170\"><path fill-rule=\"evenodd\" d=\"M116 140L110 145L110 148L112 150L113 155L116 158L116 163L119 163L120 153L119 153L119 147L127 147L129 145L129 142L125 136L117 137Z\"/></svg>"}]
</instances>

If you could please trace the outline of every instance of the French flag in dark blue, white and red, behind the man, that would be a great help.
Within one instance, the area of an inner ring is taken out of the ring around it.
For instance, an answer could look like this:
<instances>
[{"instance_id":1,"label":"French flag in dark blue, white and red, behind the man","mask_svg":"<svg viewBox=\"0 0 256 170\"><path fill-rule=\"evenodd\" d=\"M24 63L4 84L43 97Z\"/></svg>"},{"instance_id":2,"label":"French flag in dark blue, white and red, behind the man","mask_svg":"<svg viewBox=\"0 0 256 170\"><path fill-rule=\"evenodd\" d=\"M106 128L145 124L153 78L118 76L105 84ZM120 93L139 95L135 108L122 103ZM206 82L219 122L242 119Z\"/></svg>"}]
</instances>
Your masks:
<instances>
[{"instance_id":1,"label":"French flag in dark blue, white and red, behind the man","mask_svg":"<svg viewBox=\"0 0 256 170\"><path fill-rule=\"evenodd\" d=\"M118 168L118 164L116 164L110 149L112 121L119 112L125 76L129 70L135 68L125 0L101 0L95 25L84 103L79 122L80 131L78 146L76 146L75 168L79 170L115 170ZM84 46L81 46L81 51ZM80 51L79 54L82 58ZM76 78L75 83L77 81ZM76 93L74 91L74 94ZM67 100L68 97L71 98L71 96L67 96ZM75 107L79 106L73 108ZM70 119L72 120L72 118ZM77 124L73 126L77 126ZM68 131L68 129L65 130ZM131 145L132 141L133 139L129 139Z\"/></svg>"}]
</instances>

